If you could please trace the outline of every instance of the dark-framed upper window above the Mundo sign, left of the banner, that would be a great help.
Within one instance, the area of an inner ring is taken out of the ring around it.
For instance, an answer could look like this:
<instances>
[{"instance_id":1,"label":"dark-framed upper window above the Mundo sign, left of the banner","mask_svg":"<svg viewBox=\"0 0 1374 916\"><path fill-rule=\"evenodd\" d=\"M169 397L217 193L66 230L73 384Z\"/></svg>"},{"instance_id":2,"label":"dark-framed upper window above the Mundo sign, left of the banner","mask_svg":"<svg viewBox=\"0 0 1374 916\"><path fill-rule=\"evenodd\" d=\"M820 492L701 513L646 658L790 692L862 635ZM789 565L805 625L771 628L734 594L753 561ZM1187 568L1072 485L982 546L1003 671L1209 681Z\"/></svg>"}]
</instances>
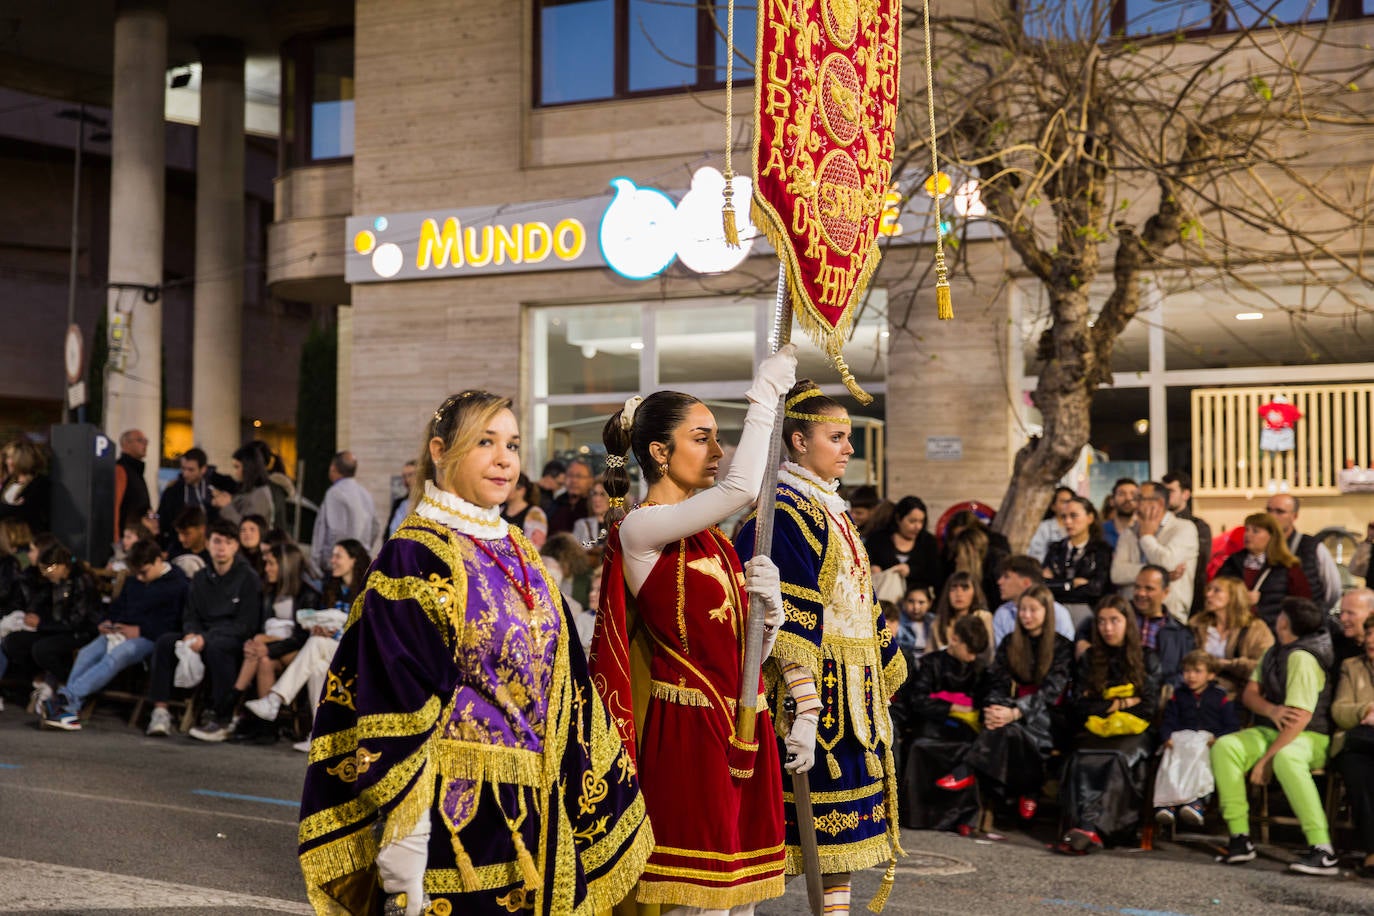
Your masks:
<instances>
[{"instance_id":1,"label":"dark-framed upper window above the Mundo sign, left of the banner","mask_svg":"<svg viewBox=\"0 0 1374 916\"><path fill-rule=\"evenodd\" d=\"M534 0L536 104L725 82L724 0ZM753 80L756 0L735 0L735 78Z\"/></svg>"}]
</instances>

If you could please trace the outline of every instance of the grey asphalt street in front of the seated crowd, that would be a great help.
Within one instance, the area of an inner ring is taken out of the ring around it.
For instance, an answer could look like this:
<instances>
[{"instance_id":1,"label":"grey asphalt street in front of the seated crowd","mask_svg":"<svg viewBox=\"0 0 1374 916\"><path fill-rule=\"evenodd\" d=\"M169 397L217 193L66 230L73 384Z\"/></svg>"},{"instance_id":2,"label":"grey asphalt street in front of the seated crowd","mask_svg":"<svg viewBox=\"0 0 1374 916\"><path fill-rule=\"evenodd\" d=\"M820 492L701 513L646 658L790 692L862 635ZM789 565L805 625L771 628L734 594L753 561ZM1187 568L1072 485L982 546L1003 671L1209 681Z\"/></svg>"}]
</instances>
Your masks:
<instances>
[{"instance_id":1,"label":"grey asphalt street in front of the seated crowd","mask_svg":"<svg viewBox=\"0 0 1374 916\"><path fill-rule=\"evenodd\" d=\"M0 913L309 913L295 862L305 755L286 742L144 737L126 714L104 707L82 732L63 733L38 729L14 703L0 713ZM1065 858L1046 850L1052 824L1033 834L904 831L908 857L886 913L1374 915L1374 882L1287 873L1286 847L1226 868L1202 842ZM855 913L867 912L881 876L856 876ZM758 908L805 912L800 880Z\"/></svg>"}]
</instances>

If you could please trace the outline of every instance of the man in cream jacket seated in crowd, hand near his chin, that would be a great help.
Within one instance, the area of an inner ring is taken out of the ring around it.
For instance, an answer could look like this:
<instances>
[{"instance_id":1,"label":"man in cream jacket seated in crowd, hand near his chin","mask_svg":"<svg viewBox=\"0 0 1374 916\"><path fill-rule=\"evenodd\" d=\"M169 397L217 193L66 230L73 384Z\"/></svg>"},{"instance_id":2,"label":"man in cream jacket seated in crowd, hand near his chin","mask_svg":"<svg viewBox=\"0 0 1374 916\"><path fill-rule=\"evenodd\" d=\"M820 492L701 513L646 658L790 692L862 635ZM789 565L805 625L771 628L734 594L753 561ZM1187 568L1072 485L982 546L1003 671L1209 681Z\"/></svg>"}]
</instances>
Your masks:
<instances>
[{"instance_id":1,"label":"man in cream jacket seated in crowd, hand near his chin","mask_svg":"<svg viewBox=\"0 0 1374 916\"><path fill-rule=\"evenodd\" d=\"M1146 564L1168 570L1165 607L1179 622L1189 619L1193 606L1193 577L1198 564L1198 530L1169 512L1169 493L1162 483L1147 481L1135 488L1139 503L1135 520L1117 526L1118 540L1112 552L1112 584L1131 597L1135 577Z\"/></svg>"}]
</instances>

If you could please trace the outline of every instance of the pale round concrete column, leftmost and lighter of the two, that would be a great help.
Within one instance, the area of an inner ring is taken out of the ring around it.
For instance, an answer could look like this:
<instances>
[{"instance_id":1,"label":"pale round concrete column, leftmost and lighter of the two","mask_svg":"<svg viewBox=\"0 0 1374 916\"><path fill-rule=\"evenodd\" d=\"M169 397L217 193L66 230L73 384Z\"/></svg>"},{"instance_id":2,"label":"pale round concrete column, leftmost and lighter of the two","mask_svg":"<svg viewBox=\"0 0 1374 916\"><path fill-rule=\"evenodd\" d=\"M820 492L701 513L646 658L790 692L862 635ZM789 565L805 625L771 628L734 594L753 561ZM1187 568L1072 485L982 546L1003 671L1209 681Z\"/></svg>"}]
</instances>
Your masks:
<instances>
[{"instance_id":1,"label":"pale round concrete column, leftmost and lighter of the two","mask_svg":"<svg viewBox=\"0 0 1374 916\"><path fill-rule=\"evenodd\" d=\"M157 291L162 284L166 62L166 4L120 0L114 19L111 365L104 394L104 428L111 437L129 428L147 434L147 479L154 493L162 456L162 297L159 293L146 297L136 287Z\"/></svg>"}]
</instances>

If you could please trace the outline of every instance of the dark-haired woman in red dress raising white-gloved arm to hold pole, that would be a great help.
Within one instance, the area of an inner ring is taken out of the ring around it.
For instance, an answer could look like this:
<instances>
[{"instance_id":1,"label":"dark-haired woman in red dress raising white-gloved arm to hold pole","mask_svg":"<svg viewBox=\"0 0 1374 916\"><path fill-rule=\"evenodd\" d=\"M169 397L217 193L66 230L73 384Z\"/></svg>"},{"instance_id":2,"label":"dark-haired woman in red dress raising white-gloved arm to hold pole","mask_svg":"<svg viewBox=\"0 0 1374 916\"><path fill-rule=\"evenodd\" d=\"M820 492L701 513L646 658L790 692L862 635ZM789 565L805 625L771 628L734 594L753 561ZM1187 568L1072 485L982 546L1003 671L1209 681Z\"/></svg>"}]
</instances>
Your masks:
<instances>
[{"instance_id":1,"label":"dark-haired woman in red dress raising white-gloved arm to hold pole","mask_svg":"<svg viewBox=\"0 0 1374 916\"><path fill-rule=\"evenodd\" d=\"M636 754L654 827L640 904L739 915L783 893L778 747L758 740L772 735L767 706L753 735L735 731L747 593L764 597L775 634L778 569L767 556L742 567L717 525L757 500L774 415L794 375L790 346L760 365L720 483L716 422L691 396L631 398L602 434L611 509L592 680ZM631 450L649 500L622 516ZM769 650L771 639L764 656Z\"/></svg>"}]
</instances>

